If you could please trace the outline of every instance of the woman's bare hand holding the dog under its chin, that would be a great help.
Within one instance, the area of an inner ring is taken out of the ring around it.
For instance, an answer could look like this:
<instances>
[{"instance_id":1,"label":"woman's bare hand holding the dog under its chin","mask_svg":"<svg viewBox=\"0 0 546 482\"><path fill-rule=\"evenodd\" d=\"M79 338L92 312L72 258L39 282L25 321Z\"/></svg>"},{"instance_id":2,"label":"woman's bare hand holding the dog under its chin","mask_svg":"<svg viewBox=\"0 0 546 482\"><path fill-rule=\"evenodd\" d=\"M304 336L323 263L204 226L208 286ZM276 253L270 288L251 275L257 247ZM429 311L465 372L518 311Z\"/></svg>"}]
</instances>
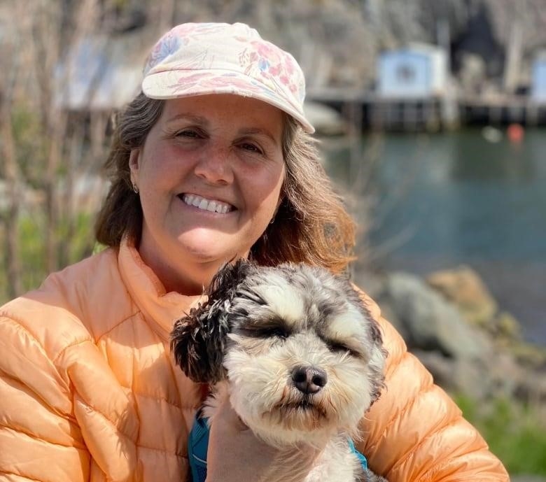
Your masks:
<instances>
[{"instance_id":1,"label":"woman's bare hand holding the dog under its chin","mask_svg":"<svg viewBox=\"0 0 546 482\"><path fill-rule=\"evenodd\" d=\"M318 455L316 448L273 448L241 422L228 399L218 407L209 436L207 482L300 482Z\"/></svg>"}]
</instances>

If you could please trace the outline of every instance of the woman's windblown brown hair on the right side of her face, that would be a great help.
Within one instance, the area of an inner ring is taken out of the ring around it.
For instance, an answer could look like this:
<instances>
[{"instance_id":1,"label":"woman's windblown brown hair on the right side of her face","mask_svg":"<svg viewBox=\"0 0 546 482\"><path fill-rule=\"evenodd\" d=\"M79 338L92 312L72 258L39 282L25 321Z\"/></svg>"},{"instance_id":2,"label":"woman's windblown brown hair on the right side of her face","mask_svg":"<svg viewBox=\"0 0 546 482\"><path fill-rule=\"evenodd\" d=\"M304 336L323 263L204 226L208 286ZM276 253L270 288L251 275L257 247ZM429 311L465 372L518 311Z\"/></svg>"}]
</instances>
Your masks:
<instances>
[{"instance_id":1,"label":"woman's windblown brown hair on the right side of her face","mask_svg":"<svg viewBox=\"0 0 546 482\"><path fill-rule=\"evenodd\" d=\"M321 164L316 141L286 116L286 178L274 222L251 253L260 264L307 262L339 273L353 259L355 226Z\"/></svg>"}]
</instances>

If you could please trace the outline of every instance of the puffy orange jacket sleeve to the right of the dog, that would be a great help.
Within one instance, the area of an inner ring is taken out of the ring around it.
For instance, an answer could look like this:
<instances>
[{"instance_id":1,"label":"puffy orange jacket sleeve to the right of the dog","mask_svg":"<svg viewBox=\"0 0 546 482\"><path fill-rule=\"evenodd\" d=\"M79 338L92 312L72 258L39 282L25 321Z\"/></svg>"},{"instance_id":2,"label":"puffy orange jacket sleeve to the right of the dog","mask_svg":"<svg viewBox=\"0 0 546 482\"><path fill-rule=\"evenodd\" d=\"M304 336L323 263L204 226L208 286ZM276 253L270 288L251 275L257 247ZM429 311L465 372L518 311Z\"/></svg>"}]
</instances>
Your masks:
<instances>
[{"instance_id":1,"label":"puffy orange jacket sleeve to the right of the dog","mask_svg":"<svg viewBox=\"0 0 546 482\"><path fill-rule=\"evenodd\" d=\"M359 448L370 468L389 482L509 481L505 468L394 327L379 321L385 348L386 388L366 413Z\"/></svg>"}]
</instances>

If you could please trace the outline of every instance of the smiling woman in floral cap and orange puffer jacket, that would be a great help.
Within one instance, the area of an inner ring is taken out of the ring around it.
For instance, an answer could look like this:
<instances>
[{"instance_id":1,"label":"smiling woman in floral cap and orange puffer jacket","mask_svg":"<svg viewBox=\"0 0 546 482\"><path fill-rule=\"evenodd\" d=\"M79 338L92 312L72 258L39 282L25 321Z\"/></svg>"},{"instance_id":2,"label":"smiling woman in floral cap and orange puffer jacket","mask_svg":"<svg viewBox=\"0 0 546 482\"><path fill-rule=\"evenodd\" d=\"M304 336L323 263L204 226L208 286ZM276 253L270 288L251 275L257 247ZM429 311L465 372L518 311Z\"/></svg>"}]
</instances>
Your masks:
<instances>
[{"instance_id":1,"label":"smiling woman in floral cap and orange puffer jacket","mask_svg":"<svg viewBox=\"0 0 546 482\"><path fill-rule=\"evenodd\" d=\"M0 310L0 480L185 480L205 394L174 365L173 321L237 257L334 272L351 258L353 224L308 135L293 57L244 24L183 24L153 48L142 87L106 163L97 239L109 248ZM507 481L367 302L390 353L363 420L370 467L393 482ZM303 479L311 450L279 464L222 413L207 481Z\"/></svg>"}]
</instances>

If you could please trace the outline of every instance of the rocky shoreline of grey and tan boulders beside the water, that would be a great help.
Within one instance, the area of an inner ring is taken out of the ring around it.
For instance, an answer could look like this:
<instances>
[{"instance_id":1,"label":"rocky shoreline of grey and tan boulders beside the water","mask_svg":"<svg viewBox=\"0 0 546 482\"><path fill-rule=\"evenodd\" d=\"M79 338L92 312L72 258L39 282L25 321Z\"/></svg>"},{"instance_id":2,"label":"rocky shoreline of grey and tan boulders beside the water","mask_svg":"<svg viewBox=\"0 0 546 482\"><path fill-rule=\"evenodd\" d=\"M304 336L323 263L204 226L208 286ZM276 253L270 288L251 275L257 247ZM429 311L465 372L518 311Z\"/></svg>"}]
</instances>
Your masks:
<instances>
[{"instance_id":1,"label":"rocky shoreline of grey and tan boulders beside the water","mask_svg":"<svg viewBox=\"0 0 546 482\"><path fill-rule=\"evenodd\" d=\"M361 272L355 281L448 392L484 402L546 405L546 348L521 338L519 322L498 309L470 267L426 279Z\"/></svg>"}]
</instances>

